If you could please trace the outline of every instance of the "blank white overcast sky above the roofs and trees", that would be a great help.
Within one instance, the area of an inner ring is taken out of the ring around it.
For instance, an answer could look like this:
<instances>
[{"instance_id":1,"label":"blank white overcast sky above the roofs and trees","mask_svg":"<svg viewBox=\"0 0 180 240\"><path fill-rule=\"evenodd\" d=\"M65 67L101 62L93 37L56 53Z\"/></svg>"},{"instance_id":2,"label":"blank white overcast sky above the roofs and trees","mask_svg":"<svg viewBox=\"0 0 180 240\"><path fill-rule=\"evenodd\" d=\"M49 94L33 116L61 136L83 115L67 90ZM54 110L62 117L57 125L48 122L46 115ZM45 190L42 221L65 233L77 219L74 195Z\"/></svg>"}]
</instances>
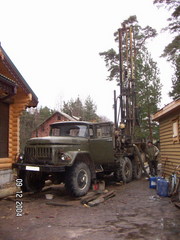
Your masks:
<instances>
[{"instance_id":1,"label":"blank white overcast sky above the roofs and trees","mask_svg":"<svg viewBox=\"0 0 180 240\"><path fill-rule=\"evenodd\" d=\"M0 0L1 45L38 96L39 106L91 96L97 113L113 120L113 90L99 52L116 48L113 33L136 15L142 27L158 32L170 16L153 0ZM161 107L171 101L172 69L160 58L171 41L161 33L149 42L163 84Z\"/></svg>"}]
</instances>

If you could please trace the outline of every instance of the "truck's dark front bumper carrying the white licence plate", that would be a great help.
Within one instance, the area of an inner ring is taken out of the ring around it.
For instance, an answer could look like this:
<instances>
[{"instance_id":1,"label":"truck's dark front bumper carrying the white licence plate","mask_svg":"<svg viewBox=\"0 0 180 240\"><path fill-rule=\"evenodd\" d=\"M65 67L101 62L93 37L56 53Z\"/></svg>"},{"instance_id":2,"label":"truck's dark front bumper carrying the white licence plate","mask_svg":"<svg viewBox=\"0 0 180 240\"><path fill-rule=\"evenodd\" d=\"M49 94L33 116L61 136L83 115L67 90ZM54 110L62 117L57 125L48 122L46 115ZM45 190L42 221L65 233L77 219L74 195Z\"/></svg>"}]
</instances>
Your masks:
<instances>
[{"instance_id":1,"label":"truck's dark front bumper carrying the white licence plate","mask_svg":"<svg viewBox=\"0 0 180 240\"><path fill-rule=\"evenodd\" d=\"M13 163L12 168L24 171L36 171L36 172L65 172L65 167L52 166L52 165L35 165L28 163Z\"/></svg>"}]
</instances>

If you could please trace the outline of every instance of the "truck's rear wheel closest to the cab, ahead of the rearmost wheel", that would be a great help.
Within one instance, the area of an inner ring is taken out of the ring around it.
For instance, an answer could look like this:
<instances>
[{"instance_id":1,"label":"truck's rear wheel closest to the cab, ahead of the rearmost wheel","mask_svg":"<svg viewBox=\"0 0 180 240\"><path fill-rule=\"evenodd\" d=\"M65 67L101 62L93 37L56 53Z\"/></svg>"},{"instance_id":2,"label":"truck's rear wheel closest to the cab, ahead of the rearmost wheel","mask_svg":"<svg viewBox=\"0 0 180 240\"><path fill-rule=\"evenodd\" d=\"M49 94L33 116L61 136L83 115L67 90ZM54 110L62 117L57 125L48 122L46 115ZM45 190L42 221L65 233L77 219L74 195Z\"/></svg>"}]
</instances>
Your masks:
<instances>
[{"instance_id":1,"label":"truck's rear wheel closest to the cab, ahead of the rearmost wheel","mask_svg":"<svg viewBox=\"0 0 180 240\"><path fill-rule=\"evenodd\" d=\"M127 157L121 158L118 163L118 168L114 172L117 181L128 183L132 180L132 163Z\"/></svg>"}]
</instances>

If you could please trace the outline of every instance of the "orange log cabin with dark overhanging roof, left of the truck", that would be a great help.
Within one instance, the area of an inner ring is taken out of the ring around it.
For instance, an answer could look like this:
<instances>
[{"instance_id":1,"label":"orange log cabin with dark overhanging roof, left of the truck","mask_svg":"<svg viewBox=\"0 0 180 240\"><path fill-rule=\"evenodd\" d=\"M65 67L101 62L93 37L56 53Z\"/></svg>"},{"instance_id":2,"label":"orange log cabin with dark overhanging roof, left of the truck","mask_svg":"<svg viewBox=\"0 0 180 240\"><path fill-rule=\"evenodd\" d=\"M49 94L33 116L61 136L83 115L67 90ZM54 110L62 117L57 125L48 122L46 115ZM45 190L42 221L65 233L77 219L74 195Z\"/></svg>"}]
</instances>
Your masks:
<instances>
[{"instance_id":1,"label":"orange log cabin with dark overhanging roof, left of the truck","mask_svg":"<svg viewBox=\"0 0 180 240\"><path fill-rule=\"evenodd\" d=\"M0 185L11 176L19 153L19 117L38 98L0 46Z\"/></svg>"}]
</instances>

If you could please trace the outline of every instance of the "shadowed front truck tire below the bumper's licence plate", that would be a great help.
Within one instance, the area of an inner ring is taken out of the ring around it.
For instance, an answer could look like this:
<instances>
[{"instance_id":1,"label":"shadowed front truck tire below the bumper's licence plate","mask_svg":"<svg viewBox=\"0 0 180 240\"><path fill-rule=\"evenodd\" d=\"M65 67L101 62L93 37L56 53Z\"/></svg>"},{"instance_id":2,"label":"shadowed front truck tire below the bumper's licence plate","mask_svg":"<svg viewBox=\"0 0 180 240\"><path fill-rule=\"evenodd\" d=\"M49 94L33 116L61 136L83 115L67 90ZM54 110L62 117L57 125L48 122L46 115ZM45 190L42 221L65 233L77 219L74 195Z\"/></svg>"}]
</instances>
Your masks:
<instances>
[{"instance_id":1,"label":"shadowed front truck tire below the bumper's licence plate","mask_svg":"<svg viewBox=\"0 0 180 240\"><path fill-rule=\"evenodd\" d=\"M25 171L22 191L40 192L45 185L45 179L41 172Z\"/></svg>"}]
</instances>

